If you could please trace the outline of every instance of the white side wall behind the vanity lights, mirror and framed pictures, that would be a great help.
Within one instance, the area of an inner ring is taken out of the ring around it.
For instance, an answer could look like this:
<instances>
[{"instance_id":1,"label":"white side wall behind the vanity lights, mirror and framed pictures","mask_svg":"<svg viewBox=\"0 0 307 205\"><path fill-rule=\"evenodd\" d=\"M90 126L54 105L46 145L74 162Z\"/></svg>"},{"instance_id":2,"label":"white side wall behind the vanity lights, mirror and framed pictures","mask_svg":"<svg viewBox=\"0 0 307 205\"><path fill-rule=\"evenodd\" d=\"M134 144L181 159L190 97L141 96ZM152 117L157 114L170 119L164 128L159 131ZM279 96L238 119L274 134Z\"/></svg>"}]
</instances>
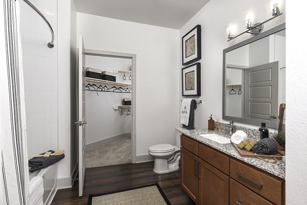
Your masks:
<instances>
[{"instance_id":1,"label":"white side wall behind the vanity lights, mirror and framed pictures","mask_svg":"<svg viewBox=\"0 0 307 205\"><path fill-rule=\"evenodd\" d=\"M281 2L283 14L267 22L264 31L285 22L285 1ZM223 50L252 37L251 34L244 34L227 42L226 25L233 24L236 28L234 35L245 31L244 14L248 11L254 11L255 21L264 21L270 18L269 1L240 0L236 1L235 5L232 1L227 0L210 1L180 29L182 37L195 25L202 26L202 59L199 62L202 67L202 96L200 99L203 99L204 103L195 110L195 128L208 127L207 120L210 114L222 118ZM179 118L178 123L180 123ZM258 126L251 125L244 126L258 128Z\"/></svg>"}]
</instances>

